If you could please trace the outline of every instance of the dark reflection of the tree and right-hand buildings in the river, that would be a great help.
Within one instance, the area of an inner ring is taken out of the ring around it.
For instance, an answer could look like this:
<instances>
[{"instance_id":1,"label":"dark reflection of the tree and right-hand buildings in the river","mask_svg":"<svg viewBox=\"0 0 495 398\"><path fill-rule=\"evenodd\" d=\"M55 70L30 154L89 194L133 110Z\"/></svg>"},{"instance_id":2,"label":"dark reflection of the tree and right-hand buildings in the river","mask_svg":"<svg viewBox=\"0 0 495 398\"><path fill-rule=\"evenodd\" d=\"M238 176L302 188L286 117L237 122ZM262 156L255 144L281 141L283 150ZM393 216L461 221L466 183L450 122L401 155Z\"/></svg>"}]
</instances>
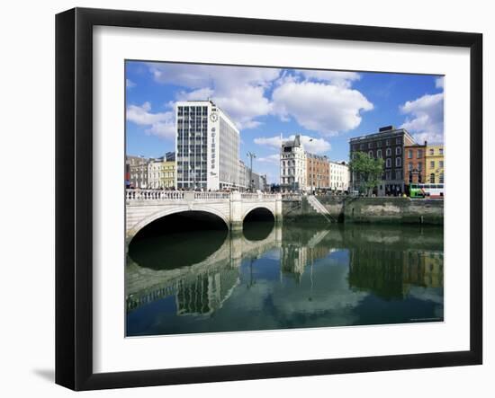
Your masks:
<instances>
[{"instance_id":1,"label":"dark reflection of the tree and right-hand buildings in the river","mask_svg":"<svg viewBox=\"0 0 495 398\"><path fill-rule=\"evenodd\" d=\"M443 287L443 253L355 248L350 254L348 282L350 287L384 299L403 298L411 286Z\"/></svg>"}]
</instances>

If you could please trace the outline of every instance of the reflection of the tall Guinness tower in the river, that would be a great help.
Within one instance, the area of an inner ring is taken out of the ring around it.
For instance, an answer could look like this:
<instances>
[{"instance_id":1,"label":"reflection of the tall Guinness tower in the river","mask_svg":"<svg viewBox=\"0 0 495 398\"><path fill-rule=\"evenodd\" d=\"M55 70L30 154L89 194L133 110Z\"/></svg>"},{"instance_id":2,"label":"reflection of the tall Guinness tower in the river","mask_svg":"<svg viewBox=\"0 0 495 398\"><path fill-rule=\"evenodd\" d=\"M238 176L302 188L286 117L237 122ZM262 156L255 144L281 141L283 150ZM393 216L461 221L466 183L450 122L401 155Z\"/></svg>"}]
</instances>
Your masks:
<instances>
[{"instance_id":1,"label":"reflection of the tall Guinness tower in the river","mask_svg":"<svg viewBox=\"0 0 495 398\"><path fill-rule=\"evenodd\" d=\"M177 314L211 314L220 309L238 281L237 269L204 273L193 281L181 279L175 294Z\"/></svg>"}]
</instances>

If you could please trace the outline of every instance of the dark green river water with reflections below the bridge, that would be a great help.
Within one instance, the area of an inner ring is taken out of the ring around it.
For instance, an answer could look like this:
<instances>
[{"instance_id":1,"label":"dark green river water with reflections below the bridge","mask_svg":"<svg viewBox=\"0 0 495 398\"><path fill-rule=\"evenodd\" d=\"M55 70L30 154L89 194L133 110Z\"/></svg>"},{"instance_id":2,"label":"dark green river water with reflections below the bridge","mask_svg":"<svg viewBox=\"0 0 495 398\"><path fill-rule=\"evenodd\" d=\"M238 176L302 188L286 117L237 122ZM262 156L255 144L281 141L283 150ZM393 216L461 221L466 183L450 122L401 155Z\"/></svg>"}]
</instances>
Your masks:
<instances>
[{"instance_id":1,"label":"dark green river water with reflections below the bridge","mask_svg":"<svg viewBox=\"0 0 495 398\"><path fill-rule=\"evenodd\" d=\"M437 226L253 222L131 242L128 336L444 319Z\"/></svg>"}]
</instances>

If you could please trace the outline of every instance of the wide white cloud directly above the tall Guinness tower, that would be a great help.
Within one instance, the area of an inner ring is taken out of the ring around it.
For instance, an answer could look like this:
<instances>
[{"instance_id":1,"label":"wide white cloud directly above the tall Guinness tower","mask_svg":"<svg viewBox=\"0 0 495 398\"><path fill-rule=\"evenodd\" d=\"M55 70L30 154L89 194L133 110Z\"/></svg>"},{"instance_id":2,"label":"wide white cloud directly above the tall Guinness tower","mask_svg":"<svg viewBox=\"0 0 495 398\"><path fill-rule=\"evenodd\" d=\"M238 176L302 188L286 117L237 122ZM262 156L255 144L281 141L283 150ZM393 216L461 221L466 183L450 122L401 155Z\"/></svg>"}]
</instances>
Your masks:
<instances>
[{"instance_id":1,"label":"wide white cloud directly above the tall Guinness tower","mask_svg":"<svg viewBox=\"0 0 495 398\"><path fill-rule=\"evenodd\" d=\"M181 92L178 100L210 98L234 119L238 128L255 128L260 116L272 111L266 98L268 88L280 75L279 69L245 66L148 64L155 81L193 90Z\"/></svg>"}]
</instances>

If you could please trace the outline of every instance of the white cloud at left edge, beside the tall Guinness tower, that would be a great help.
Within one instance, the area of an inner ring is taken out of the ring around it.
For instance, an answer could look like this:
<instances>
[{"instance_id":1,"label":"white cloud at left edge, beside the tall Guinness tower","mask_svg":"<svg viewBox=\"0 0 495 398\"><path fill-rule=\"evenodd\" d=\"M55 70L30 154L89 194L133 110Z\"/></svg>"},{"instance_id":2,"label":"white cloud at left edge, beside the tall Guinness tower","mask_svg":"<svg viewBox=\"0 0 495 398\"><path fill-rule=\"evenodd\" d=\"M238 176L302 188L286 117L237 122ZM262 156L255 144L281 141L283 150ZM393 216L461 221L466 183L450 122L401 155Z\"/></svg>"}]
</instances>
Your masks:
<instances>
[{"instance_id":1,"label":"white cloud at left edge, beside the tall Guinness tower","mask_svg":"<svg viewBox=\"0 0 495 398\"><path fill-rule=\"evenodd\" d=\"M175 113L172 111L151 113L151 104L144 102L141 106L129 105L126 119L138 126L148 126L147 134L175 139Z\"/></svg>"}]
</instances>

